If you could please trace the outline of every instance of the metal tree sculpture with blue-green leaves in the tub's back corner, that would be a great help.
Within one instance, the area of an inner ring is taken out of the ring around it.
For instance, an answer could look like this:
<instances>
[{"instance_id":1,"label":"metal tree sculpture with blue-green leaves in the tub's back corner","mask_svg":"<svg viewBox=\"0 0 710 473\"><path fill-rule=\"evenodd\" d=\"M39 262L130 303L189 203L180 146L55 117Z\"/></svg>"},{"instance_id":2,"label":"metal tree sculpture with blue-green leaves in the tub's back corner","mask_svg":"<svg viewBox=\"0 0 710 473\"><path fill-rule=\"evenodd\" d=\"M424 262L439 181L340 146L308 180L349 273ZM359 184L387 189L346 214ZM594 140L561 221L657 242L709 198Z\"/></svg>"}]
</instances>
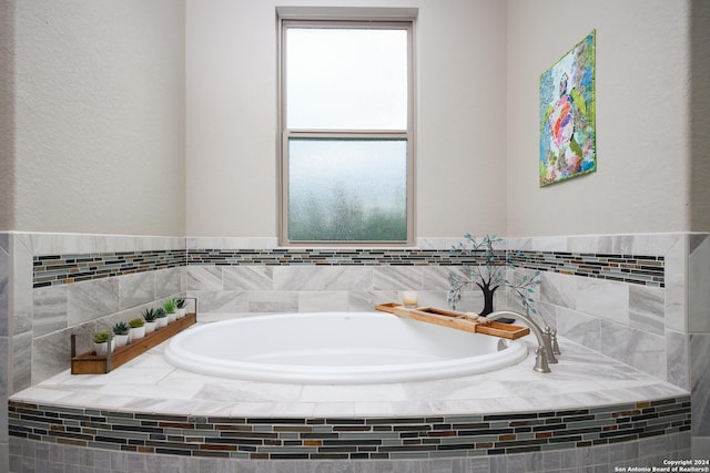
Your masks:
<instances>
[{"instance_id":1,"label":"metal tree sculpture with blue-green leaves in the tub's back corner","mask_svg":"<svg viewBox=\"0 0 710 473\"><path fill-rule=\"evenodd\" d=\"M496 290L500 287L509 288L523 304L526 311L537 313L534 299L531 297L535 287L541 282L540 271L535 271L531 276L525 275L519 280L509 280L505 273L507 269L515 269L511 264L513 257L525 258L521 251L496 250L495 246L503 243L503 238L496 235L486 235L478 240L470 234L464 235L466 243L459 243L452 247L453 251L475 261L474 266L464 265L464 271L452 271L448 275L450 288L448 291L448 302L456 310L456 302L462 298L462 290L467 287L477 286L484 294L484 308L481 316L493 312L493 300Z\"/></svg>"}]
</instances>

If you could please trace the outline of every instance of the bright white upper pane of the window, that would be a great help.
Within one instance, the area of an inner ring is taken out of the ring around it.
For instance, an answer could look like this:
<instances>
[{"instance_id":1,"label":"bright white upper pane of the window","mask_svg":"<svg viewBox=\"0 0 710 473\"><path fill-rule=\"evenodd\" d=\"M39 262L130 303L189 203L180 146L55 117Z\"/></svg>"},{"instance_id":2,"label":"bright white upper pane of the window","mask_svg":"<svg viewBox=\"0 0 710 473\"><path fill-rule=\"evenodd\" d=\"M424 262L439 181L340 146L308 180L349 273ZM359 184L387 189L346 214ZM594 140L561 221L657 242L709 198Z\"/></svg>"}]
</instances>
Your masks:
<instances>
[{"instance_id":1,"label":"bright white upper pane of the window","mask_svg":"<svg viewBox=\"0 0 710 473\"><path fill-rule=\"evenodd\" d=\"M407 31L286 30L286 127L407 128Z\"/></svg>"}]
</instances>

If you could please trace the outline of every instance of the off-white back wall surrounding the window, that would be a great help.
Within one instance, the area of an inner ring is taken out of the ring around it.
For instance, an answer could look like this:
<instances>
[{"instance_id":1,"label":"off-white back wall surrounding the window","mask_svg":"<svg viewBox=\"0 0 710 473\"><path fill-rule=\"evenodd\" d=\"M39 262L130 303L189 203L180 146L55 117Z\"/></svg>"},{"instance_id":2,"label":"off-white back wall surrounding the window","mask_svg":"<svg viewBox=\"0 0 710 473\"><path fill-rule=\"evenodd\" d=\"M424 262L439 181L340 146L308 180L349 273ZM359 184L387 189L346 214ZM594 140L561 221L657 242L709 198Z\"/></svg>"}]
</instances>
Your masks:
<instances>
[{"instance_id":1,"label":"off-white back wall surrounding the window","mask_svg":"<svg viewBox=\"0 0 710 473\"><path fill-rule=\"evenodd\" d=\"M505 232L506 3L187 0L187 235L277 234L276 6L418 8L418 236Z\"/></svg>"}]
</instances>

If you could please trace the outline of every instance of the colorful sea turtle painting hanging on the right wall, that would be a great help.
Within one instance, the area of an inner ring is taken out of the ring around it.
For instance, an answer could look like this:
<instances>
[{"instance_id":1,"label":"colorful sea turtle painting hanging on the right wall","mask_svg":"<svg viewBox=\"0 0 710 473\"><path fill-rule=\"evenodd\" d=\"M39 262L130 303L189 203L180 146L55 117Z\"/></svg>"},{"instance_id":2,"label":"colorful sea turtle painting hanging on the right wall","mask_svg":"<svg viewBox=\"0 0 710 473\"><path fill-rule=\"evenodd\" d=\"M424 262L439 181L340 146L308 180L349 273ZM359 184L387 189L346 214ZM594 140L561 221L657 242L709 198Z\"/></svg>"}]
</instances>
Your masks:
<instances>
[{"instance_id":1,"label":"colorful sea turtle painting hanging on the right wall","mask_svg":"<svg viewBox=\"0 0 710 473\"><path fill-rule=\"evenodd\" d=\"M540 75L540 187L597 171L595 35Z\"/></svg>"}]
</instances>

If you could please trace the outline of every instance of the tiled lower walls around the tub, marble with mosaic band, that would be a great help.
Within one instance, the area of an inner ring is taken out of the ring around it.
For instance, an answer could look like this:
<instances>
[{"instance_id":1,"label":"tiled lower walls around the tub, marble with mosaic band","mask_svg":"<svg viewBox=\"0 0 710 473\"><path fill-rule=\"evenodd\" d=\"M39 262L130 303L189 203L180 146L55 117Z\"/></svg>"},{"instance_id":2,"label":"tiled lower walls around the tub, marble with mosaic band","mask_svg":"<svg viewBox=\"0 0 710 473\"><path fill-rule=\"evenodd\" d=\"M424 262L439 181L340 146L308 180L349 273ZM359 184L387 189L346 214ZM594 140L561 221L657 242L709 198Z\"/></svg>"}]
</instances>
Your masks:
<instances>
[{"instance_id":1,"label":"tiled lower walls around the tub, marble with mosaic band","mask_svg":"<svg viewBox=\"0 0 710 473\"><path fill-rule=\"evenodd\" d=\"M204 249L195 247L204 243L195 239L189 250L175 248L184 240L170 238L26 234L11 239L13 279L32 288L16 284L13 336L22 339L13 353L16 391L64 368L69 332L94 331L97 323L109 326L181 292L185 265L186 289L203 311L274 312L372 310L375 304L399 300L406 289L418 290L420 304L445 307L449 271L480 263L480 255L450 251L452 239L429 239L417 249ZM667 361L682 363L687 351L681 345L679 354L668 357L676 346L666 342L674 336L667 336L666 320L669 249L637 239L609 248L604 238L592 247L589 241L582 247L579 238L558 239L556 248L513 240L519 253L505 258L501 250L498 256L516 265L515 273L542 271L539 307L546 323L557 326L560 335L686 387L686 370ZM476 311L479 299L479 291L469 290L459 308ZM498 295L499 308L515 306L503 291ZM627 337L638 345L619 342ZM649 358L655 362L646 363Z\"/></svg>"}]
</instances>

